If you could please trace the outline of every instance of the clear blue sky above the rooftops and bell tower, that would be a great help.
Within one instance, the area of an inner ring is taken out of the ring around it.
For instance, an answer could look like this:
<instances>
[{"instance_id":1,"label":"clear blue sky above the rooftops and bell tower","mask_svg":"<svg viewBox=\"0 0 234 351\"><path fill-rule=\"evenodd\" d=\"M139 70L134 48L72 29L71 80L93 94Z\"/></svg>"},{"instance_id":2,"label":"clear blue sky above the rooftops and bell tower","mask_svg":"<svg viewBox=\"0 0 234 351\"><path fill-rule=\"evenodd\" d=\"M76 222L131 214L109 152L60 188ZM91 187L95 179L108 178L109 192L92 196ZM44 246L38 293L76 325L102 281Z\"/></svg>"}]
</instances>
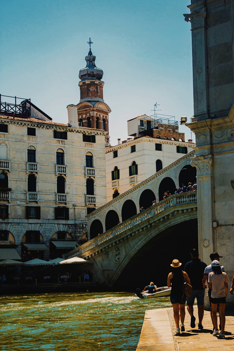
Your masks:
<instances>
[{"instance_id":1,"label":"clear blue sky above the rooftops and bell tower","mask_svg":"<svg viewBox=\"0 0 234 351\"><path fill-rule=\"evenodd\" d=\"M31 98L67 123L68 104L80 100L78 74L91 37L103 69L104 100L112 112L112 145L127 138L127 120L159 113L193 115L189 0L1 0L0 93ZM181 132L190 138L190 130ZM195 141L195 138L193 136Z\"/></svg>"}]
</instances>

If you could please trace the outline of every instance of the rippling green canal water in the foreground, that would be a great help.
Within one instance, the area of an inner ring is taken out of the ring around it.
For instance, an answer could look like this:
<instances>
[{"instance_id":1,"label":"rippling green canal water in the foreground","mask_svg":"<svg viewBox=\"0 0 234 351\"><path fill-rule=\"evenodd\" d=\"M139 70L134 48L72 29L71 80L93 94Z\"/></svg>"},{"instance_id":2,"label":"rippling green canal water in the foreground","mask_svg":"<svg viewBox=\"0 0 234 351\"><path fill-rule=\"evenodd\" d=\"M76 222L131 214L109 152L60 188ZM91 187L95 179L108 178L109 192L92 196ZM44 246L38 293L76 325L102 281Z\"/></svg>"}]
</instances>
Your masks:
<instances>
[{"instance_id":1,"label":"rippling green canal water in the foreground","mask_svg":"<svg viewBox=\"0 0 234 351\"><path fill-rule=\"evenodd\" d=\"M145 311L169 306L124 292L1 296L0 350L134 351Z\"/></svg>"}]
</instances>

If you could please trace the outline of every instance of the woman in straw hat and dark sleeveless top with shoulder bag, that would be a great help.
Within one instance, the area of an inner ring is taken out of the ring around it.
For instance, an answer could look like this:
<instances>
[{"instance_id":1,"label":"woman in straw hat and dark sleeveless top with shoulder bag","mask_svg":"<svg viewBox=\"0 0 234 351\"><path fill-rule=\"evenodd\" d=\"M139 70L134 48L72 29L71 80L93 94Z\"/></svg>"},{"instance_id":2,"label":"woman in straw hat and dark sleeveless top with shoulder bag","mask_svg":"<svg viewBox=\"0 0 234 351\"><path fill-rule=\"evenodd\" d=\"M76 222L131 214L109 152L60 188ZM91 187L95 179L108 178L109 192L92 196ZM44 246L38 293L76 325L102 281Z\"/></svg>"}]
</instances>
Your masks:
<instances>
[{"instance_id":1,"label":"woman in straw hat and dark sleeveless top with shoulder bag","mask_svg":"<svg viewBox=\"0 0 234 351\"><path fill-rule=\"evenodd\" d=\"M186 272L182 271L182 263L178 259L172 261L172 271L167 277L167 286L172 287L171 290L171 303L174 312L174 320L176 325L176 333L180 333L180 320L181 331L185 331L185 302L186 296L183 296L183 281L184 279L190 284L190 279Z\"/></svg>"}]
</instances>

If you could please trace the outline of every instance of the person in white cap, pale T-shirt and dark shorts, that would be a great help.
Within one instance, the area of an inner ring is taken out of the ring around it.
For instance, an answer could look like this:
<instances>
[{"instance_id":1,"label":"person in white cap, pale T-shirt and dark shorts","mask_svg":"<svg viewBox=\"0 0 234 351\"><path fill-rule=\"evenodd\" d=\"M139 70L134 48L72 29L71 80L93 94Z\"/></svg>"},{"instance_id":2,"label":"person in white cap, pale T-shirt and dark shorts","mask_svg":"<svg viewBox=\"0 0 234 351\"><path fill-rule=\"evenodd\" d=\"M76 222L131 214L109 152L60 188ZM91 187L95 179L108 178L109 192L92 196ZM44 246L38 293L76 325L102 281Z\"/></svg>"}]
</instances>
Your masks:
<instances>
[{"instance_id":1,"label":"person in white cap, pale T-shirt and dark shorts","mask_svg":"<svg viewBox=\"0 0 234 351\"><path fill-rule=\"evenodd\" d=\"M220 263L218 260L212 261L211 264L212 272L209 273L208 277L208 286L211 289L211 309L212 317L214 323L213 335L218 335L221 338L224 338L224 328L225 328L225 306L226 306L226 297L228 291L228 276L225 272L221 271ZM221 332L218 330L218 321L217 321L217 306L219 303L219 314L221 322Z\"/></svg>"}]
</instances>

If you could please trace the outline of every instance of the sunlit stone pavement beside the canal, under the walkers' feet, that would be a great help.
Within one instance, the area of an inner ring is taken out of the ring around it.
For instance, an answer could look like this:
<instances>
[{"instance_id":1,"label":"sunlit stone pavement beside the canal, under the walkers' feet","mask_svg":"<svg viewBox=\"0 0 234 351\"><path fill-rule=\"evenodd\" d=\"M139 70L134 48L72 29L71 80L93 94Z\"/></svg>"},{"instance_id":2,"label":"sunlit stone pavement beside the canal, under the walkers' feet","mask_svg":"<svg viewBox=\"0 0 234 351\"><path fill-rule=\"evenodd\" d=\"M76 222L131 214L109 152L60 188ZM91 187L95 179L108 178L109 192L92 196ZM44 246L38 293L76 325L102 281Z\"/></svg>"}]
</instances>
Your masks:
<instances>
[{"instance_id":1,"label":"sunlit stone pavement beside the canal, under the walkers' feet","mask_svg":"<svg viewBox=\"0 0 234 351\"><path fill-rule=\"evenodd\" d=\"M148 310L136 351L227 351L234 350L234 317L226 316L225 339L210 334L213 329L210 312L204 312L203 330L198 329L198 309L194 306L196 327L190 327L186 310L185 332L175 333L172 308Z\"/></svg>"}]
</instances>

